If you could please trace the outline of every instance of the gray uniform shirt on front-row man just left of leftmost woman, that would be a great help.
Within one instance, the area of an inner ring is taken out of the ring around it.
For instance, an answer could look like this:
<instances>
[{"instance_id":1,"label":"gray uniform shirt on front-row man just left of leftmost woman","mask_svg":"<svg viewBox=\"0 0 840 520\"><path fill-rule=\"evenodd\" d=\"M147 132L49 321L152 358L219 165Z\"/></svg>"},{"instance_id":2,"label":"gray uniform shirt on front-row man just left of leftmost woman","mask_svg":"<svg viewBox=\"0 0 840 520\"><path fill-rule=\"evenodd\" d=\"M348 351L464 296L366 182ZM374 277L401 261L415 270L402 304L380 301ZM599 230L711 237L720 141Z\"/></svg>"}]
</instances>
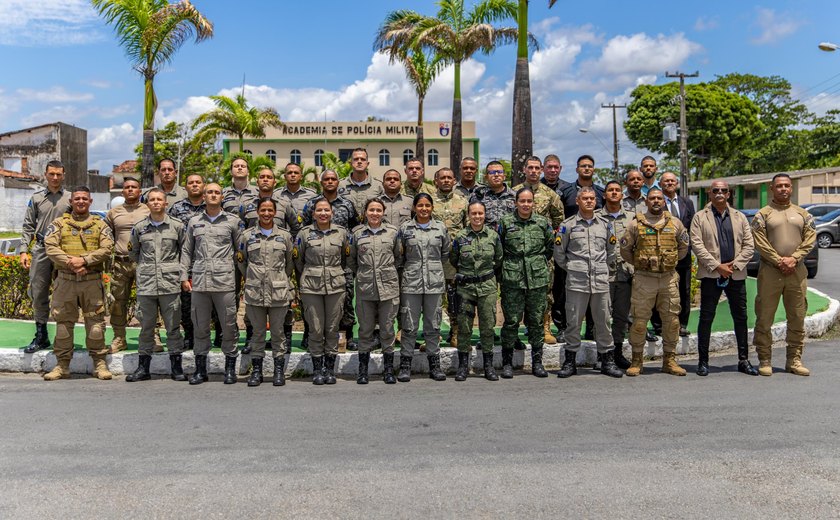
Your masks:
<instances>
[{"instance_id":1,"label":"gray uniform shirt on front-row man just left of leftmost woman","mask_svg":"<svg viewBox=\"0 0 840 520\"><path fill-rule=\"evenodd\" d=\"M194 291L233 291L233 252L243 229L242 221L226 211L213 221L206 210L191 218L181 249L181 281L189 280L192 272Z\"/></svg>"}]
</instances>

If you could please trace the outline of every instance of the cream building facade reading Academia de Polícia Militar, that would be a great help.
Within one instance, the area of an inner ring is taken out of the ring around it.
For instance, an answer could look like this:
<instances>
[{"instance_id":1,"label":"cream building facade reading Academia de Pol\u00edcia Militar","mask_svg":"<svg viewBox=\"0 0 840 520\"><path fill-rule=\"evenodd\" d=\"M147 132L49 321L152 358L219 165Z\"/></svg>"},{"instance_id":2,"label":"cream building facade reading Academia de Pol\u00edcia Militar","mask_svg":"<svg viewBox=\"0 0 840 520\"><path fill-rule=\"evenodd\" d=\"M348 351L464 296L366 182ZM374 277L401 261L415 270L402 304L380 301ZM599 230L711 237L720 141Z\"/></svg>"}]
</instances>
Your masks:
<instances>
[{"instance_id":1,"label":"cream building facade reading Academia de Pol\u00edcia Militar","mask_svg":"<svg viewBox=\"0 0 840 520\"><path fill-rule=\"evenodd\" d=\"M479 155L479 140L475 133L475 122L464 121L463 156ZM439 168L450 166L449 143L451 125L442 121L427 121L423 124L425 143L426 175ZM405 162L414 157L417 144L417 124L413 122L360 121L360 122L287 122L283 128L271 128L264 139L246 138L243 151L252 155L265 155L279 168L289 162L323 167L323 156L332 153L346 161L355 148L368 152L368 171L376 178L389 169L403 171ZM236 136L226 135L222 141L225 157L239 152Z\"/></svg>"}]
</instances>

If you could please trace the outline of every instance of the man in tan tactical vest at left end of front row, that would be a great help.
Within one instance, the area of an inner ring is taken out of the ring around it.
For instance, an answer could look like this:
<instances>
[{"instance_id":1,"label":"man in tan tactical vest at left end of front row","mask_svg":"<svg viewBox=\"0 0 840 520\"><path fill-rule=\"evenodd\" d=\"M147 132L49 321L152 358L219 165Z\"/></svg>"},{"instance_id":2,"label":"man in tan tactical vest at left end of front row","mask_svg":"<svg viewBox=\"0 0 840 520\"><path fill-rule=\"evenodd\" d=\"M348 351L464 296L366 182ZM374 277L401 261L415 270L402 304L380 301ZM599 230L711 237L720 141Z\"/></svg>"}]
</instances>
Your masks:
<instances>
[{"instance_id":1,"label":"man in tan tactical vest at left end of front row","mask_svg":"<svg viewBox=\"0 0 840 520\"><path fill-rule=\"evenodd\" d=\"M102 271L114 248L111 229L90 214L93 199L87 186L73 188L72 211L47 228L44 248L58 270L50 312L56 323L53 351L58 364L44 375L47 381L70 377L73 358L73 328L79 308L85 318L85 347L93 359L93 375L111 379L105 356L105 287Z\"/></svg>"}]
</instances>

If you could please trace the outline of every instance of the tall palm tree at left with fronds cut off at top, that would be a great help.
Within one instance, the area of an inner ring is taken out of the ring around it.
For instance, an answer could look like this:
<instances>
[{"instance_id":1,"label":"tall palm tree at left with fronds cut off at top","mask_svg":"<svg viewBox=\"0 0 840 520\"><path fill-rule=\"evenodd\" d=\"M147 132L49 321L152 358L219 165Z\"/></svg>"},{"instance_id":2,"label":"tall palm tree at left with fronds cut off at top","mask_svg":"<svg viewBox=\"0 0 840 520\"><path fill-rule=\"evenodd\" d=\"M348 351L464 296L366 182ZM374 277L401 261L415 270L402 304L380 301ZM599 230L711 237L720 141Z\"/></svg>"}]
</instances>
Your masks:
<instances>
[{"instance_id":1,"label":"tall palm tree at left with fronds cut off at top","mask_svg":"<svg viewBox=\"0 0 840 520\"><path fill-rule=\"evenodd\" d=\"M117 39L134 69L143 75L143 186L154 183L155 75L170 63L190 38L196 43L213 37L213 24L189 0L91 0Z\"/></svg>"}]
</instances>

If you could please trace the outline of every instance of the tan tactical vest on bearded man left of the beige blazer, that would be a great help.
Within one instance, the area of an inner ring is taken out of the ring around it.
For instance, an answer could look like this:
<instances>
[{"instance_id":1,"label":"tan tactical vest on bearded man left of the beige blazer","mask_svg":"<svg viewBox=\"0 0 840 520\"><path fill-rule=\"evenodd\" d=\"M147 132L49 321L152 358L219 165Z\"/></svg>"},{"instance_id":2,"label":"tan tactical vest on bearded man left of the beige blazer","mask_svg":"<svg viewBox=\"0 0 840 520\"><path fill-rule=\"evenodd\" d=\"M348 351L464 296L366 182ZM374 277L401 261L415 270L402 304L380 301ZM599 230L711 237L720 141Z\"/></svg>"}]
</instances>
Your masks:
<instances>
[{"instance_id":1,"label":"tan tactical vest on bearded man left of the beige blazer","mask_svg":"<svg viewBox=\"0 0 840 520\"><path fill-rule=\"evenodd\" d=\"M665 273L677 267L679 257L677 228L671 214L665 212L662 220L651 224L642 213L636 214L638 237L633 251L633 264L637 271Z\"/></svg>"}]
</instances>

